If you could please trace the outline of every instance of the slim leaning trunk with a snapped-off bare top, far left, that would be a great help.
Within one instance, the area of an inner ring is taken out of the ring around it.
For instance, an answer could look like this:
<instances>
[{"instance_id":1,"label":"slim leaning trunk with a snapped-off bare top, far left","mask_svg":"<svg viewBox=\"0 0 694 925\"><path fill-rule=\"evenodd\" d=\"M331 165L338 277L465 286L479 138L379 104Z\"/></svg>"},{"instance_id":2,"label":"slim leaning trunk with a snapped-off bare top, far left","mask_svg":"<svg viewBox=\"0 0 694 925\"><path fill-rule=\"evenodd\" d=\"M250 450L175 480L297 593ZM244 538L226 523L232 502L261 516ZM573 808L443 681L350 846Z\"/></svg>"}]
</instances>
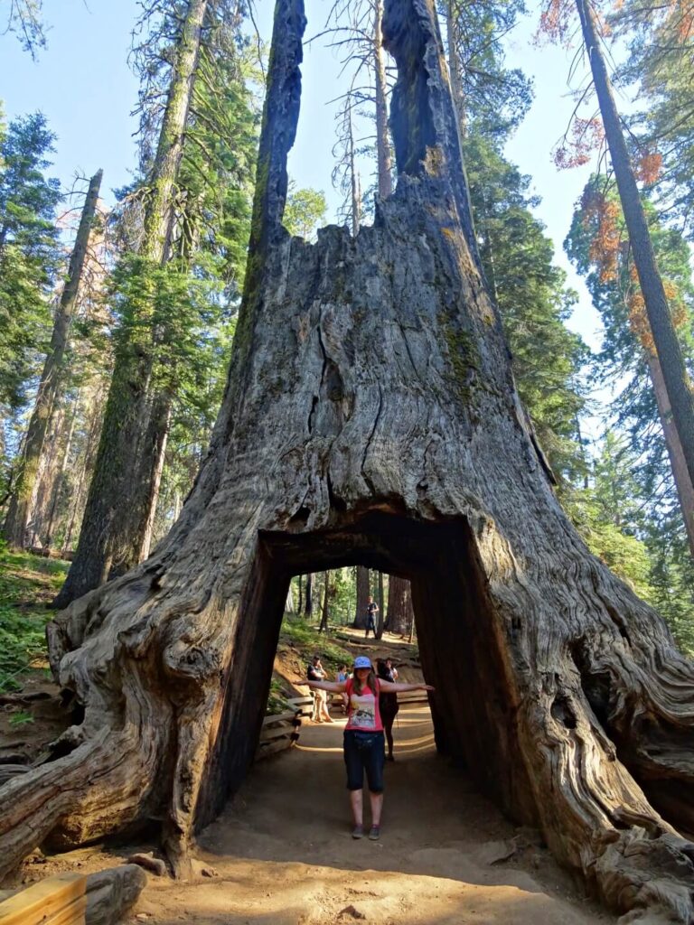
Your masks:
<instances>
[{"instance_id":1,"label":"slim leaning trunk with a snapped-off bare top, far left","mask_svg":"<svg viewBox=\"0 0 694 925\"><path fill-rule=\"evenodd\" d=\"M51 425L56 395L61 386L69 329L77 305L81 275L89 247L89 237L92 232L102 177L103 171L101 170L94 174L82 206L77 238L68 265L68 278L56 309L51 345L43 364L43 373L31 413L19 475L7 511L5 538L10 546L19 549L23 548L26 542L27 524L31 516L31 499L39 473L43 442Z\"/></svg>"}]
</instances>

